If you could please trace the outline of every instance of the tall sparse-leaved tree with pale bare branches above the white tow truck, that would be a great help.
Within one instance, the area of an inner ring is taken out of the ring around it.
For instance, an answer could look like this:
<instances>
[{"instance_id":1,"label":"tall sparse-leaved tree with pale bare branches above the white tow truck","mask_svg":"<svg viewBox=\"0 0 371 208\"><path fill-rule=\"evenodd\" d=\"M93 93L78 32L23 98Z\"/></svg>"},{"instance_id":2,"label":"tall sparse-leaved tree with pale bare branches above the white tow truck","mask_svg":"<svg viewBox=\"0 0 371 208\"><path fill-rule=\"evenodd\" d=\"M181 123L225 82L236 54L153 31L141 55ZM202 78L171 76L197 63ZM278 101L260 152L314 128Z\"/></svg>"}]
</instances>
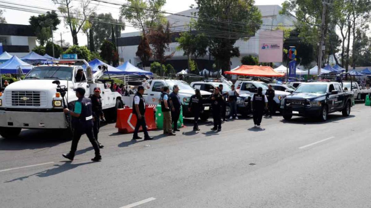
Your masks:
<instances>
[{"instance_id":1,"label":"tall sparse-leaved tree with pale bare branches above the white tow truck","mask_svg":"<svg viewBox=\"0 0 371 208\"><path fill-rule=\"evenodd\" d=\"M85 20L95 8L90 7L91 0L81 0L80 6L73 9L72 0L52 0L58 4L58 10L65 18L65 25L69 27L73 45L78 45L77 34L85 24Z\"/></svg>"}]
</instances>

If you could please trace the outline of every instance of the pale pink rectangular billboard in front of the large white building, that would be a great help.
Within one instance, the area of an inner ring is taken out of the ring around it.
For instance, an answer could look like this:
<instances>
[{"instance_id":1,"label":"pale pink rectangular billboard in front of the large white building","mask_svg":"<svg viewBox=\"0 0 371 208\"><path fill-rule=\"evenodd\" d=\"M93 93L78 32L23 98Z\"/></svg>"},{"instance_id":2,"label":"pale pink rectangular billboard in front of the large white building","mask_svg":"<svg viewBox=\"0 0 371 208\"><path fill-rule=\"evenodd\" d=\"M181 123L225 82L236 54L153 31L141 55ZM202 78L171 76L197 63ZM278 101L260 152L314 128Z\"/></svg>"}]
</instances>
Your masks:
<instances>
[{"instance_id":1,"label":"pale pink rectangular billboard in front of the large white building","mask_svg":"<svg viewBox=\"0 0 371 208\"><path fill-rule=\"evenodd\" d=\"M282 62L283 31L259 33L259 62Z\"/></svg>"}]
</instances>

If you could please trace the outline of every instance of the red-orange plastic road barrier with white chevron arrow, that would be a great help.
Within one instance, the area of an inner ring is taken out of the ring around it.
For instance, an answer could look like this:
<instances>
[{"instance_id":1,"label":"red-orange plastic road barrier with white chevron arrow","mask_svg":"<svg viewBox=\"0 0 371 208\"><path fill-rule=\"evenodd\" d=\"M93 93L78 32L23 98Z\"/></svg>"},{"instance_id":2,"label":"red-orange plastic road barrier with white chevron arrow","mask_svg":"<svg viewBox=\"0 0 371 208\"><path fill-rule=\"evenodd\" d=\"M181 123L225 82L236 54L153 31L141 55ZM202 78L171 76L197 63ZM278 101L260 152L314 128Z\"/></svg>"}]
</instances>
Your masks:
<instances>
[{"instance_id":1,"label":"red-orange plastic road barrier with white chevron arrow","mask_svg":"<svg viewBox=\"0 0 371 208\"><path fill-rule=\"evenodd\" d=\"M148 105L146 105L144 116L148 131L157 129L154 111L154 107L148 107ZM137 116L132 114L132 112L133 109L128 106L117 109L116 128L118 128L119 133L128 134L134 132L135 125L137 124ZM142 131L142 127L140 127L139 130Z\"/></svg>"}]
</instances>

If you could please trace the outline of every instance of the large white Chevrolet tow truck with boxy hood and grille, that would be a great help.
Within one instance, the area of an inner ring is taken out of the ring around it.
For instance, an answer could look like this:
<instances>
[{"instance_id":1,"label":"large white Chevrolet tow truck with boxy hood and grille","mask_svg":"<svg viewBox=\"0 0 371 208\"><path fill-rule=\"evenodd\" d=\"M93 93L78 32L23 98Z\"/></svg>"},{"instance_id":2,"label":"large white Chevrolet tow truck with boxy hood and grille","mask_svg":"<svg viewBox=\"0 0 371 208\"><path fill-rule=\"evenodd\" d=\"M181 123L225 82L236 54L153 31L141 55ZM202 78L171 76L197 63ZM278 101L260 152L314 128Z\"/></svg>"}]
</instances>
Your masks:
<instances>
[{"instance_id":1,"label":"large white Chevrolet tow truck with boxy hood and grille","mask_svg":"<svg viewBox=\"0 0 371 208\"><path fill-rule=\"evenodd\" d=\"M100 87L106 119L114 120L116 109L122 108L121 94L105 88L104 80L98 81L106 67L101 68L93 74L92 67L82 59L33 67L23 80L10 84L0 93L0 135L16 137L22 128L59 129L70 139L71 118L63 113L63 108L73 110L78 100L73 89L77 87L85 88L85 97Z\"/></svg>"}]
</instances>

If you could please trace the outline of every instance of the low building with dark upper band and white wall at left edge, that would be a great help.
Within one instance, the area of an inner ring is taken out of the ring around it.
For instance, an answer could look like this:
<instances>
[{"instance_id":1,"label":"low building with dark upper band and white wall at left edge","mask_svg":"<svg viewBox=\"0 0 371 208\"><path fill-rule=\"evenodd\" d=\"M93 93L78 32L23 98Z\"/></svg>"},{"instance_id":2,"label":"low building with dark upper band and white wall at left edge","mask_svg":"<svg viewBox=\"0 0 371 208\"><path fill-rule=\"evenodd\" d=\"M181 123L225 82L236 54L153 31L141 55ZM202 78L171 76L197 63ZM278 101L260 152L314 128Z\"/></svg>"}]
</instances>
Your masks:
<instances>
[{"instance_id":1,"label":"low building with dark upper band and white wall at left edge","mask_svg":"<svg viewBox=\"0 0 371 208\"><path fill-rule=\"evenodd\" d=\"M36 47L36 35L33 28L22 24L0 24L0 43L3 51L23 57Z\"/></svg>"}]
</instances>

